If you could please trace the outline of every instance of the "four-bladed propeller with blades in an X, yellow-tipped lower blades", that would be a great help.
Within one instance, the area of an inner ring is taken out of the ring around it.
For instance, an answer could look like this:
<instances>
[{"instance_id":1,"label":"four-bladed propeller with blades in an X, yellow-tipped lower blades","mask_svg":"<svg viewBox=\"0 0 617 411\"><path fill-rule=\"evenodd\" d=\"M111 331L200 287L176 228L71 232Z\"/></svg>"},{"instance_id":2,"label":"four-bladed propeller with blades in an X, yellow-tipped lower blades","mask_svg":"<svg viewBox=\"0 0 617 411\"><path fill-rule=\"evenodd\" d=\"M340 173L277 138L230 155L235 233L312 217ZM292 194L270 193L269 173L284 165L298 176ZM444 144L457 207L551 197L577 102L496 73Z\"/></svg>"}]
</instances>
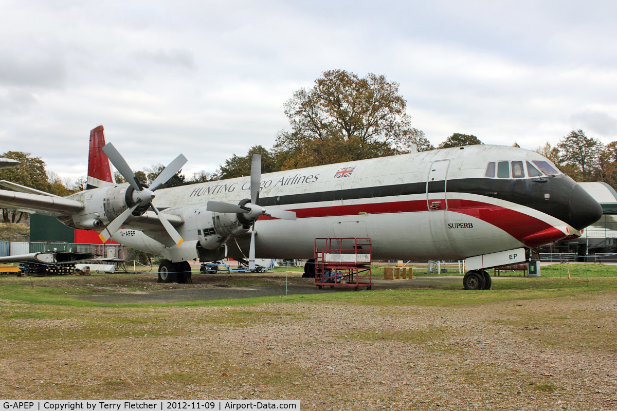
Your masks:
<instances>
[{"instance_id":1,"label":"four-bladed propeller with blades in an X, yellow-tipped lower blades","mask_svg":"<svg viewBox=\"0 0 617 411\"><path fill-rule=\"evenodd\" d=\"M109 240L109 238L111 238L112 235L114 235L114 233L117 232L120 227L122 227L122 224L124 224L126 219L128 219L131 213L133 213L133 211L135 211L138 207L149 205L152 211L154 211L154 213L159 218L159 221L167 231L167 234L172 237L173 242L175 242L176 245L182 244L182 242L184 241L182 236L172 226L172 223L170 223L168 219L165 218L165 214L160 213L160 211L154 206L154 204L152 204L152 200L156 196L154 192L159 189L163 184L165 184L170 178L172 178L176 173L178 173L182 166L186 164L186 157L184 157L183 155L179 155L178 157L176 157L171 163L169 163L167 167L163 169L163 171L160 172L160 174L154 179L154 181L152 181L152 184L148 188L141 184L141 182L139 182L137 176L135 176L135 173L133 173L133 170L131 170L130 166L128 166L128 163L126 163L124 157L122 157L120 152L116 150L114 145L108 143L105 147L103 147L103 152L107 155L109 161L112 162L112 164L120 172L120 174L122 174L122 177L124 177L128 184L131 185L131 189L133 189L133 192L131 192L131 199L133 200L133 204L130 205L125 211L123 211L122 214L117 216L114 221L110 222L109 225L101 232L101 234L99 234L102 242L107 242L107 240ZM144 208L142 212L146 211L146 209L147 207Z\"/></svg>"}]
</instances>

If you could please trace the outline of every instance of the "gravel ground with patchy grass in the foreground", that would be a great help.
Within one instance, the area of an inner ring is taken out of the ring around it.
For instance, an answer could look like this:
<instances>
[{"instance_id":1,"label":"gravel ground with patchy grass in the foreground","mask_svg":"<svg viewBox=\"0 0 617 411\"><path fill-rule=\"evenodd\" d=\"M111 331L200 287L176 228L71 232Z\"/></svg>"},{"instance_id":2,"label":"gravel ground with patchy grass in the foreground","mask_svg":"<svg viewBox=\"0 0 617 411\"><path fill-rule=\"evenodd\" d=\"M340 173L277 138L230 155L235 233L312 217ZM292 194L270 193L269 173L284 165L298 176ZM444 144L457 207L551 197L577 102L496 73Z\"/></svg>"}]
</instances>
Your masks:
<instances>
[{"instance_id":1,"label":"gravel ground with patchy grass in the foreground","mask_svg":"<svg viewBox=\"0 0 617 411\"><path fill-rule=\"evenodd\" d=\"M0 300L15 317L2 323L0 397L616 410L615 296L463 307L68 308ZM18 315L33 309L43 318Z\"/></svg>"}]
</instances>

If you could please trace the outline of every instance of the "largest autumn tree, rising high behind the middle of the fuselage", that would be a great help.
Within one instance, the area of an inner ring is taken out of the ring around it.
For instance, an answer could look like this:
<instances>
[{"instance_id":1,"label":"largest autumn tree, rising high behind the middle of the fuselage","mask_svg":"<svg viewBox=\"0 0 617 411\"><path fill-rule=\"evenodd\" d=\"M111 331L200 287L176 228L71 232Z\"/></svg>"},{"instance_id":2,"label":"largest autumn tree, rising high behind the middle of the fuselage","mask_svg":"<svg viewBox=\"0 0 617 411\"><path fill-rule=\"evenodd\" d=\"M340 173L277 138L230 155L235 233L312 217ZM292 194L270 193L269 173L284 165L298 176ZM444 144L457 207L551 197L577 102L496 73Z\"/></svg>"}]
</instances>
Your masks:
<instances>
[{"instance_id":1,"label":"largest autumn tree, rising high behind the middle of the fuselage","mask_svg":"<svg viewBox=\"0 0 617 411\"><path fill-rule=\"evenodd\" d=\"M324 71L285 104L291 131L280 131L281 168L381 157L409 149L410 117L399 84L369 73Z\"/></svg>"}]
</instances>

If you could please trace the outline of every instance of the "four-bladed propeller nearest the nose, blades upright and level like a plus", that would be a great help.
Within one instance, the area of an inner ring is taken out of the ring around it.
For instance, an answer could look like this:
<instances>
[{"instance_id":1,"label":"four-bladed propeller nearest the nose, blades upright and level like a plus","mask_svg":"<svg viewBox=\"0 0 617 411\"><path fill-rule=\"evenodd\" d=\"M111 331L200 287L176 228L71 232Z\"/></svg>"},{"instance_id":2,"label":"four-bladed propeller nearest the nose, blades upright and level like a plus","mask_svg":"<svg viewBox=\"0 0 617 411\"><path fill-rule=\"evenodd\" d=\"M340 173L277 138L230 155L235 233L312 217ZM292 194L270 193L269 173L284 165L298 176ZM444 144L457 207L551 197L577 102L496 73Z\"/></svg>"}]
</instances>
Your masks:
<instances>
[{"instance_id":1,"label":"four-bladed propeller nearest the nose, blades upright and level like a plus","mask_svg":"<svg viewBox=\"0 0 617 411\"><path fill-rule=\"evenodd\" d=\"M222 201L208 201L205 209L214 213L238 214L241 222L252 226L251 248L249 248L249 270L255 269L255 221L260 216L269 216L281 220L296 220L296 213L288 210L266 210L259 205L259 188L262 179L262 156L254 154L251 161L251 198L245 198L238 205Z\"/></svg>"}]
</instances>

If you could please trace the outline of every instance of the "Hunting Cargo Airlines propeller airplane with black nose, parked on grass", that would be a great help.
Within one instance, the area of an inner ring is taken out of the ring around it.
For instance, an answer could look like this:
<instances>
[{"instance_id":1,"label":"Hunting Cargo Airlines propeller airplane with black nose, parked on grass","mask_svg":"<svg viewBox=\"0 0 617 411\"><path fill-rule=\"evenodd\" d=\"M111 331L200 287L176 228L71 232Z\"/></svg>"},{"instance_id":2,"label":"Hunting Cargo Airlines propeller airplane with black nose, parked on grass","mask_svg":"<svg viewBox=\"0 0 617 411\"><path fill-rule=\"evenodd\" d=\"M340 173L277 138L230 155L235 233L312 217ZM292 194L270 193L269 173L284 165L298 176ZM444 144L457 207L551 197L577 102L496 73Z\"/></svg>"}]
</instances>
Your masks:
<instances>
[{"instance_id":1,"label":"Hunting Cargo Airlines propeller airplane with black nose, parked on grass","mask_svg":"<svg viewBox=\"0 0 617 411\"><path fill-rule=\"evenodd\" d=\"M162 255L161 282L184 282L196 258L312 259L317 237L370 237L373 259L465 259L465 288L490 288L484 269L525 261L526 250L579 236L602 216L547 158L500 145L263 175L255 155L251 176L169 189L160 187L182 155L146 187L112 144L102 151L128 183L89 174L96 188L67 198L0 190L0 206L52 214Z\"/></svg>"}]
</instances>

